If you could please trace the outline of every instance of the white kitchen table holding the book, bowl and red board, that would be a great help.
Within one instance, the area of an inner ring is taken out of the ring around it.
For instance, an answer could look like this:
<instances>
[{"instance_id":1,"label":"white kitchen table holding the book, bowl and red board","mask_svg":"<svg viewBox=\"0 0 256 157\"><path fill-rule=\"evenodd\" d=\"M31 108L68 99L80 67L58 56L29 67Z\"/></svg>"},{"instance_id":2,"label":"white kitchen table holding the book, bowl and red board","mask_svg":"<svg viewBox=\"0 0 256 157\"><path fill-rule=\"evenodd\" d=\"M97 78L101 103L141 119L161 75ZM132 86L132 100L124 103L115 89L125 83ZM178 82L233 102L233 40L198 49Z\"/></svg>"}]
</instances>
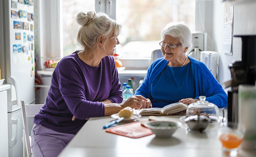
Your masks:
<instances>
[{"instance_id":1,"label":"white kitchen table holding the book, bowl and red board","mask_svg":"<svg viewBox=\"0 0 256 157\"><path fill-rule=\"evenodd\" d=\"M161 117L161 116L159 116ZM180 121L180 116L167 116ZM143 116L143 119L147 116ZM171 138L149 135L129 138L105 132L103 125L110 116L90 118L70 141L59 157L221 157L217 125L210 124L204 132L188 131L183 122ZM122 125L120 122L117 125ZM116 125L116 124L115 124ZM256 151L240 149L239 157L255 157Z\"/></svg>"}]
</instances>

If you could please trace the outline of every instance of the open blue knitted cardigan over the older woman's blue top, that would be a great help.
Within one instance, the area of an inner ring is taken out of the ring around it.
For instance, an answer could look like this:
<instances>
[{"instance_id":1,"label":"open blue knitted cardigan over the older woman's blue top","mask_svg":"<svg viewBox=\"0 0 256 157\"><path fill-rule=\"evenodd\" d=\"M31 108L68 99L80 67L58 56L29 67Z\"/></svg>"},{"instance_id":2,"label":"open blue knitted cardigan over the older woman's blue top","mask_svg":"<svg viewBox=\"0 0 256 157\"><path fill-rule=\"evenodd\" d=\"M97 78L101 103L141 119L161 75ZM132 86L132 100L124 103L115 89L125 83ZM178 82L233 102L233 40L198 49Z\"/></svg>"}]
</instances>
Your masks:
<instances>
[{"instance_id":1,"label":"open blue knitted cardigan over the older woman's blue top","mask_svg":"<svg viewBox=\"0 0 256 157\"><path fill-rule=\"evenodd\" d=\"M192 77L194 77L195 80L195 99L204 95L207 97L207 101L217 105L219 108L227 107L227 94L207 66L203 62L191 57L189 57L189 59L192 67ZM143 84L135 91L135 95L142 95L145 98L152 99L150 94L152 82L163 71L167 64L168 61L163 59L163 57L155 60L151 66L148 67L148 72L143 79Z\"/></svg>"}]
</instances>

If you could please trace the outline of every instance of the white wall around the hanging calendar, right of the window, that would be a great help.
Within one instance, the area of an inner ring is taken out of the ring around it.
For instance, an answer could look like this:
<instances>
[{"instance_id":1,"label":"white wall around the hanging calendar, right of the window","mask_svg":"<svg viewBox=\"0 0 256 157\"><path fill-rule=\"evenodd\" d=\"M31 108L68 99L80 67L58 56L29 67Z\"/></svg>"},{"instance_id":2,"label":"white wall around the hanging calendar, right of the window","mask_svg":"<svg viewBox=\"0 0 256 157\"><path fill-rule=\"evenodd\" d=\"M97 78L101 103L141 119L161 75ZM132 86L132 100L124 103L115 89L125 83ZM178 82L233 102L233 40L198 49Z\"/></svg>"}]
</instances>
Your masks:
<instances>
[{"instance_id":1,"label":"white wall around the hanging calendar, right of the window","mask_svg":"<svg viewBox=\"0 0 256 157\"><path fill-rule=\"evenodd\" d=\"M251 35L256 34L256 1L246 4L234 5L233 34ZM241 39L233 38L233 56L222 53L222 35L223 35L223 13L224 3L214 1L213 3L213 49L219 52L219 82L223 83L231 79L228 64L234 60L241 60Z\"/></svg>"}]
</instances>

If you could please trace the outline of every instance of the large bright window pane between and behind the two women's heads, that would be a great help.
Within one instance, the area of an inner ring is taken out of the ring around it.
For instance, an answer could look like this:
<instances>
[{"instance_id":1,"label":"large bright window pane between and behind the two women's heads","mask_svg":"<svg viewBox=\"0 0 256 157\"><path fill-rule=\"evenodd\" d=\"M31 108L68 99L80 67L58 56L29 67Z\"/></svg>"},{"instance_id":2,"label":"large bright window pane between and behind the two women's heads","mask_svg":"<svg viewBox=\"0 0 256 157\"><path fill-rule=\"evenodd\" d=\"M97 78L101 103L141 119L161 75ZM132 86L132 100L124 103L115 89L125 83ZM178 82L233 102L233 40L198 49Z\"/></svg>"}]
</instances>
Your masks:
<instances>
[{"instance_id":1,"label":"large bright window pane between and behind the two women's heads","mask_svg":"<svg viewBox=\"0 0 256 157\"><path fill-rule=\"evenodd\" d=\"M167 23L184 21L195 30L195 0L116 0L116 21L122 25L116 53L123 58L151 57L152 50L160 49Z\"/></svg>"}]
</instances>

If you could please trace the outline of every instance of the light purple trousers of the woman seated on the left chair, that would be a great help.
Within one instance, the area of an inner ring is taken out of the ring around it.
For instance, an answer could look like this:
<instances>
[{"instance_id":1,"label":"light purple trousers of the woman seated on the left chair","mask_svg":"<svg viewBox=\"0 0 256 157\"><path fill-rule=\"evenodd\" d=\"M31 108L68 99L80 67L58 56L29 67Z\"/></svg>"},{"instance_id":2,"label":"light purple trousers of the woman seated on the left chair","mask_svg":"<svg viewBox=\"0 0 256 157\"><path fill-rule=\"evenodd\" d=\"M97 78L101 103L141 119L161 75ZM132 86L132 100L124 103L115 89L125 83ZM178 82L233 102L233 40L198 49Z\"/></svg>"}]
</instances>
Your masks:
<instances>
[{"instance_id":1,"label":"light purple trousers of the woman seated on the left chair","mask_svg":"<svg viewBox=\"0 0 256 157\"><path fill-rule=\"evenodd\" d=\"M57 157L74 137L73 134L56 132L39 124L31 131L31 149L34 157Z\"/></svg>"}]
</instances>

